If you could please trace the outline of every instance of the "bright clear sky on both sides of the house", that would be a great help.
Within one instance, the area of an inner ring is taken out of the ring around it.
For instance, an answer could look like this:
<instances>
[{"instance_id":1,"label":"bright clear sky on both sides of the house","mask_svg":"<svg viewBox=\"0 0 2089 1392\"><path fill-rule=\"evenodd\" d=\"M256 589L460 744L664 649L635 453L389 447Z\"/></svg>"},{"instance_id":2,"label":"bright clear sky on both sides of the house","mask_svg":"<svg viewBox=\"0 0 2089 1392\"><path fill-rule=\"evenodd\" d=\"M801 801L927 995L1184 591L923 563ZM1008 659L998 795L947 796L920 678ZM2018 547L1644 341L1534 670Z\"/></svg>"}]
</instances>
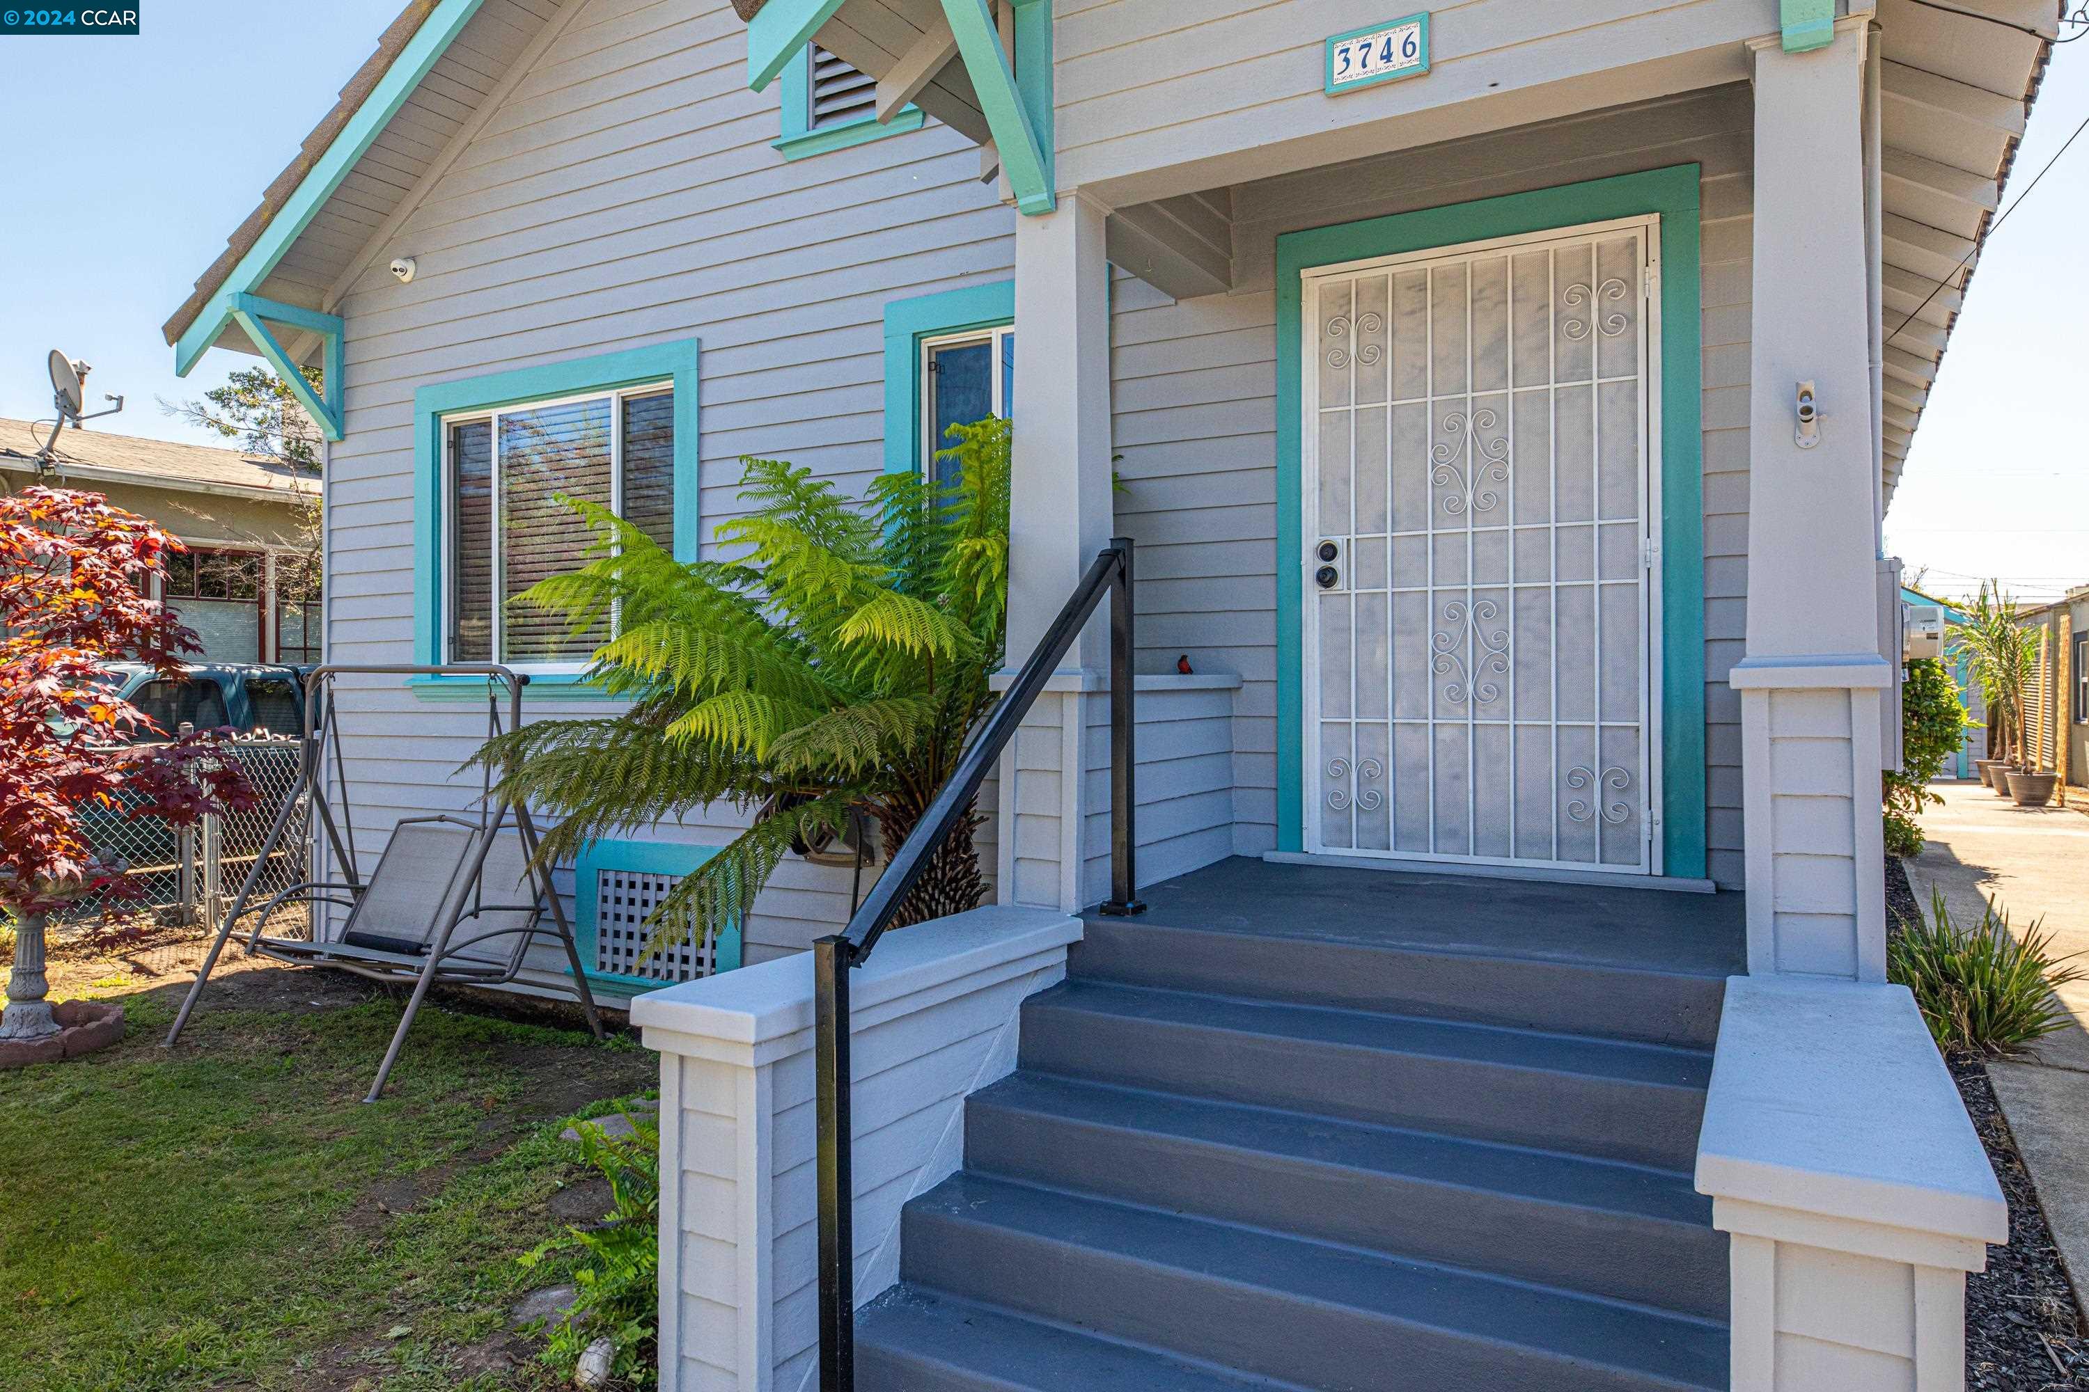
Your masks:
<instances>
[{"instance_id":1,"label":"bright clear sky on both sides of the house","mask_svg":"<svg viewBox=\"0 0 2089 1392\"><path fill-rule=\"evenodd\" d=\"M247 365L184 382L159 326L334 104L399 0L155 0L142 38L0 40L0 415L50 409L44 355L94 365L104 428L209 436L161 415ZM280 73L282 79L251 75ZM2014 198L2089 117L2089 42L2062 46L2016 161ZM1886 515L1888 549L1949 595L2001 576L2022 597L2089 582L2089 136L1989 244ZM13 440L10 440L13 442Z\"/></svg>"}]
</instances>

